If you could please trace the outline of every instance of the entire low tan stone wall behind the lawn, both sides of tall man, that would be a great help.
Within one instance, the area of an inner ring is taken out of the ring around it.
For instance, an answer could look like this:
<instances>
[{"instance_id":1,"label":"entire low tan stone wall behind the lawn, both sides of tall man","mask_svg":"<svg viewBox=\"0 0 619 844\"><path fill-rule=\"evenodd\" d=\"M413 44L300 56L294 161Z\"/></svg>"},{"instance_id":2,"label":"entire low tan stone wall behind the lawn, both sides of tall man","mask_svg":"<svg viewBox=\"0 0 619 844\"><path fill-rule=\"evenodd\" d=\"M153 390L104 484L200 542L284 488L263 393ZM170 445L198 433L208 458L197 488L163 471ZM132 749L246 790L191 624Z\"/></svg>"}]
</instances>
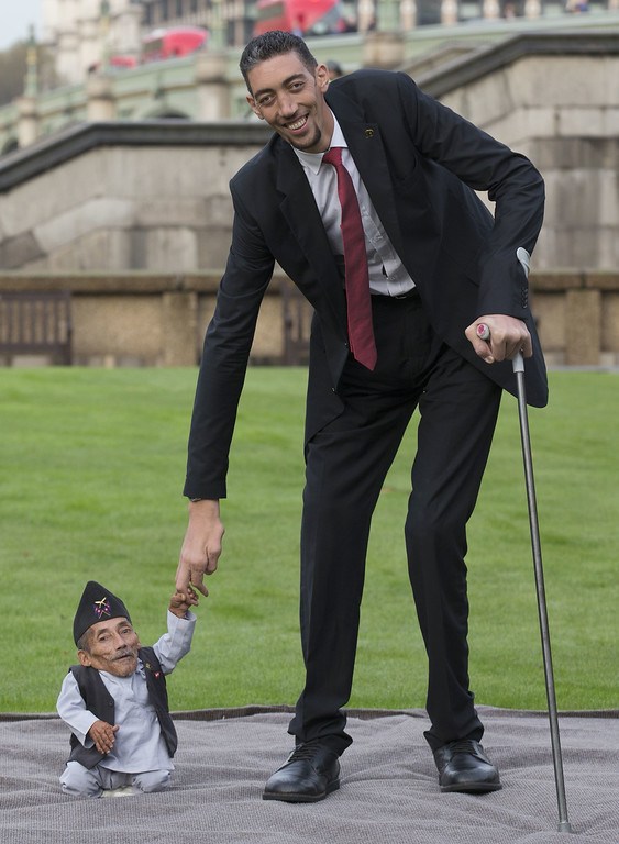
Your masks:
<instances>
[{"instance_id":1,"label":"entire low tan stone wall behind the lawn, both sides of tall man","mask_svg":"<svg viewBox=\"0 0 619 844\"><path fill-rule=\"evenodd\" d=\"M221 271L4 273L0 290L69 290L76 365L194 366L220 277ZM277 274L267 289L252 348L254 364L286 363L284 286L292 287ZM619 366L618 271L534 273L531 300L550 366Z\"/></svg>"}]
</instances>

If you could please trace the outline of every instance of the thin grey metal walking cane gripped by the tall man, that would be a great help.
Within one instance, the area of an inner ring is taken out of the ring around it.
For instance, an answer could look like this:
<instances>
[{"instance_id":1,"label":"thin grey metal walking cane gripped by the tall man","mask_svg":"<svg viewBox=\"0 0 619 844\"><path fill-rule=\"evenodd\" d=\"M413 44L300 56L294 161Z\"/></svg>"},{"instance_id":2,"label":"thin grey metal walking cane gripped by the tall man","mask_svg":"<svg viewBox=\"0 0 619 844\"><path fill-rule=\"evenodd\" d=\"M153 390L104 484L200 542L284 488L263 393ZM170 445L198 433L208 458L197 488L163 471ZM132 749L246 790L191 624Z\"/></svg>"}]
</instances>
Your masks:
<instances>
[{"instance_id":1,"label":"thin grey metal walking cane gripped by the tall man","mask_svg":"<svg viewBox=\"0 0 619 844\"><path fill-rule=\"evenodd\" d=\"M527 260L520 255L518 258L528 274ZM480 340L489 340L490 331L487 325L477 325L477 336ZM529 419L527 414L527 395L524 390L524 359L520 352L512 360L513 373L518 388L518 415L520 418L520 438L522 441L522 458L524 462L524 478L527 482L527 501L529 504L529 525L531 529L531 545L533 552L533 568L535 573L535 591L538 595L538 613L540 617L540 633L542 638L542 656L544 663L544 676L546 685L546 698L550 720L550 734L552 743L552 758L554 764L554 781L556 785L556 801L559 806L559 832L573 832L567 819L567 803L565 800L565 781L563 777L563 759L561 755L561 738L559 734L559 717L556 711L556 696L554 692L554 673L552 668L552 654L550 647L550 630L548 622L546 598L544 589L544 573L542 567L542 551L540 543L540 529L538 522L538 504L535 499L535 484L533 479L533 460L531 458L531 437L529 435Z\"/></svg>"}]
</instances>

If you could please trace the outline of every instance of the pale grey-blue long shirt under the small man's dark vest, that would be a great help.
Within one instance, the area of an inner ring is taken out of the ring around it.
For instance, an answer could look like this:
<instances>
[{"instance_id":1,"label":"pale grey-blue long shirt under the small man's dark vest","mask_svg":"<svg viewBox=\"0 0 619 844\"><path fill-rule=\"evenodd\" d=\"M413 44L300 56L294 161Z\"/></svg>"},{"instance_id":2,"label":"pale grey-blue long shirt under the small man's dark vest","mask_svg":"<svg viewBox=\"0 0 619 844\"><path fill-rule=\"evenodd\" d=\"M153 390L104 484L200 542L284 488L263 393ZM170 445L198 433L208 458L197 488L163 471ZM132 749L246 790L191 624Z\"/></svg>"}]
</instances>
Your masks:
<instances>
[{"instance_id":1,"label":"pale grey-blue long shirt under the small man's dark vest","mask_svg":"<svg viewBox=\"0 0 619 844\"><path fill-rule=\"evenodd\" d=\"M179 619L167 612L167 633L153 645L164 674L170 674L176 664L189 653L196 625L196 615L187 612ZM148 702L146 674L142 660L131 677L117 677L99 671L103 685L114 699L114 719L119 725L114 746L99 763L103 768L125 774L146 770L174 770L162 735L155 708ZM99 719L88 709L71 671L66 675L56 709L63 721L85 747L93 742L88 731Z\"/></svg>"}]
</instances>

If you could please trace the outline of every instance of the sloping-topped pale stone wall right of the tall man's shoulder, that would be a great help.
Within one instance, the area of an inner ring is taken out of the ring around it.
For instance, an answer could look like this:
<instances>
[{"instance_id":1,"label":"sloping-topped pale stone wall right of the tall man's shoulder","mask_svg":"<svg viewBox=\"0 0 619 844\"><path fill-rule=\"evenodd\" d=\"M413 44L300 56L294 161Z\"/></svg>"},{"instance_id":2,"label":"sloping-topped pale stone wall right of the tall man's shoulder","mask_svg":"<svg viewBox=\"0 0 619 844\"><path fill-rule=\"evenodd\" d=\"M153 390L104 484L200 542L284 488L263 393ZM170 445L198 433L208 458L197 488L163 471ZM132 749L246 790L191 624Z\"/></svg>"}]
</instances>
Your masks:
<instances>
[{"instance_id":1,"label":"sloping-topped pale stone wall right of the tall man's shoulder","mask_svg":"<svg viewBox=\"0 0 619 844\"><path fill-rule=\"evenodd\" d=\"M541 170L535 269L619 266L619 32L515 38L427 80L442 102Z\"/></svg>"}]
</instances>

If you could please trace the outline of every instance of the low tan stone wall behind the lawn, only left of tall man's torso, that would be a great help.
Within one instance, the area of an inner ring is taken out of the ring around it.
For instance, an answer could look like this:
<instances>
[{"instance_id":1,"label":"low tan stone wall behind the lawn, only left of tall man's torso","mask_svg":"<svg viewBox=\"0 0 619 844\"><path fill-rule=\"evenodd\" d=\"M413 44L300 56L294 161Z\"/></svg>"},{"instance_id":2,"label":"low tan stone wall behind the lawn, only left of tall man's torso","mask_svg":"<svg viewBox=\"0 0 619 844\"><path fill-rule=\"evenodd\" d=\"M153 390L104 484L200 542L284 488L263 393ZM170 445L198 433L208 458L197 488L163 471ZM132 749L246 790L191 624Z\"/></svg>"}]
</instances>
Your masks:
<instances>
[{"instance_id":1,"label":"low tan stone wall behind the lawn, only left of tall man's torso","mask_svg":"<svg viewBox=\"0 0 619 844\"><path fill-rule=\"evenodd\" d=\"M77 366L194 366L214 310L221 271L43 274L0 273L2 290L71 293L73 363ZM272 281L258 318L252 363L284 363L281 274ZM46 363L32 356L0 360Z\"/></svg>"}]
</instances>

